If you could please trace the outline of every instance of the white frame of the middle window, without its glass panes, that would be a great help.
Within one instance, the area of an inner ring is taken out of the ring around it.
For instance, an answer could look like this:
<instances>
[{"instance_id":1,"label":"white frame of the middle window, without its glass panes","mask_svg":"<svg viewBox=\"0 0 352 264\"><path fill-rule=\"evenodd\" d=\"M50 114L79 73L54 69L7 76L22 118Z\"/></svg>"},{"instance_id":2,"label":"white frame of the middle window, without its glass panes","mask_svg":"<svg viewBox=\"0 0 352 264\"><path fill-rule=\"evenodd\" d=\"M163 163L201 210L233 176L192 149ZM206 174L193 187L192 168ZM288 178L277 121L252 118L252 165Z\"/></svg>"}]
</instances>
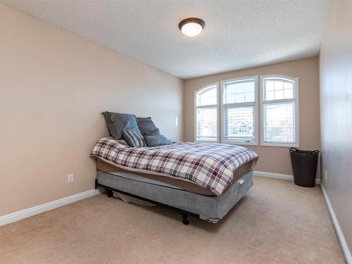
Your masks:
<instances>
[{"instance_id":1,"label":"white frame of the middle window, without its glass panes","mask_svg":"<svg viewBox=\"0 0 352 264\"><path fill-rule=\"evenodd\" d=\"M241 106L254 106L254 127L255 127L255 132L254 132L254 139L251 141L248 141L246 139L243 140L226 140L224 138L224 89L225 89L225 84L227 82L240 82L240 81L245 81L245 80L254 80L254 102L244 102L244 103L226 103L227 105L233 105L237 107ZM258 134L259 134L259 118L258 118L258 75L253 75L253 76L245 76L245 77L237 77L237 78L232 78L229 80L222 80L220 81L220 142L225 143L225 144L236 144L236 145L250 145L250 146L258 146Z\"/></svg>"}]
</instances>

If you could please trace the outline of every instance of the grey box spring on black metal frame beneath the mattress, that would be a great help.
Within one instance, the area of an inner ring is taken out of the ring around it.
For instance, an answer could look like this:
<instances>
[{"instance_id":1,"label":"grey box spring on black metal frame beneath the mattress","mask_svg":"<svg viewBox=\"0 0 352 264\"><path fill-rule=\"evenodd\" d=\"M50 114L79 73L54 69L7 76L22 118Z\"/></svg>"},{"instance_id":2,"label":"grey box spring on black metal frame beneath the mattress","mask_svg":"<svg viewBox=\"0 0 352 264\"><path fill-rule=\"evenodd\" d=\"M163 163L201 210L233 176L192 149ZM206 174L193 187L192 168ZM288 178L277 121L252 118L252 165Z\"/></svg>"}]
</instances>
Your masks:
<instances>
[{"instance_id":1,"label":"grey box spring on black metal frame beneath the mattress","mask_svg":"<svg viewBox=\"0 0 352 264\"><path fill-rule=\"evenodd\" d=\"M184 225L189 224L189 215L217 223L251 188L252 175L253 171L250 170L221 196L194 194L182 189L131 180L99 171L96 175L95 188L106 189L108 197L113 197L113 191L116 191L134 199L176 210L182 215Z\"/></svg>"}]
</instances>

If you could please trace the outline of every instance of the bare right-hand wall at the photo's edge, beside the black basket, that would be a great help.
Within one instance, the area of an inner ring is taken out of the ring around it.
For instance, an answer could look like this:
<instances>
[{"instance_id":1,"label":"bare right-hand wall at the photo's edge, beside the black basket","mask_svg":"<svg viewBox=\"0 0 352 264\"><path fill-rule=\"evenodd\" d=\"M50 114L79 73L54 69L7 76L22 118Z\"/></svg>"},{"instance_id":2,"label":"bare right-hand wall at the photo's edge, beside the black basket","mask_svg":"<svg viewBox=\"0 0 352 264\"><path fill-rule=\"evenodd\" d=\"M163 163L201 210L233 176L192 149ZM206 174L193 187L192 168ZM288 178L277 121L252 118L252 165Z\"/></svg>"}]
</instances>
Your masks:
<instances>
[{"instance_id":1,"label":"bare right-hand wall at the photo's edge, beside the black basket","mask_svg":"<svg viewBox=\"0 0 352 264\"><path fill-rule=\"evenodd\" d=\"M320 51L320 111L322 180L352 252L351 14L351 0L334 1Z\"/></svg>"}]
</instances>

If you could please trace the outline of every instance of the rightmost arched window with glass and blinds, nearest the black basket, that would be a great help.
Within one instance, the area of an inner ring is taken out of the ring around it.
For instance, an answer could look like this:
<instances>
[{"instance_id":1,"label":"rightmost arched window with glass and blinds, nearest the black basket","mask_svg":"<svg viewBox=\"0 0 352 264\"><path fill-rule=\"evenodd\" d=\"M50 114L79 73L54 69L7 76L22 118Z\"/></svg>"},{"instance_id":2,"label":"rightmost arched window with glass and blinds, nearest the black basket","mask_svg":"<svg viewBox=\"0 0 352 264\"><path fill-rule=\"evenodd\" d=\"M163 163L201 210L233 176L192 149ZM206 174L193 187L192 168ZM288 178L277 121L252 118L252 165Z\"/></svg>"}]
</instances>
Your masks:
<instances>
[{"instance_id":1,"label":"rightmost arched window with glass and blinds, nearest the black basket","mask_svg":"<svg viewBox=\"0 0 352 264\"><path fill-rule=\"evenodd\" d=\"M262 146L299 146L298 79L282 75L260 78Z\"/></svg>"}]
</instances>

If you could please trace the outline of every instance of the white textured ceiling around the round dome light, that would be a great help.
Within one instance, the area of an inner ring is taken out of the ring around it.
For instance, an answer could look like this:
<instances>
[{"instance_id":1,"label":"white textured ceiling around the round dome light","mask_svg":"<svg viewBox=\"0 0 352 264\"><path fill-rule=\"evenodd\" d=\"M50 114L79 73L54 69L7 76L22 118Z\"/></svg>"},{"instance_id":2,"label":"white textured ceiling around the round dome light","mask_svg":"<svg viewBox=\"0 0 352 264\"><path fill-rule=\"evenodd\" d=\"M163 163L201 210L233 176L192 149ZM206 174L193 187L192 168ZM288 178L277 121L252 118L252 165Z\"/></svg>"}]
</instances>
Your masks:
<instances>
[{"instance_id":1,"label":"white textured ceiling around the round dome light","mask_svg":"<svg viewBox=\"0 0 352 264\"><path fill-rule=\"evenodd\" d=\"M70 32L189 79L315 56L328 0L0 0ZM205 20L196 37L178 23Z\"/></svg>"}]
</instances>

